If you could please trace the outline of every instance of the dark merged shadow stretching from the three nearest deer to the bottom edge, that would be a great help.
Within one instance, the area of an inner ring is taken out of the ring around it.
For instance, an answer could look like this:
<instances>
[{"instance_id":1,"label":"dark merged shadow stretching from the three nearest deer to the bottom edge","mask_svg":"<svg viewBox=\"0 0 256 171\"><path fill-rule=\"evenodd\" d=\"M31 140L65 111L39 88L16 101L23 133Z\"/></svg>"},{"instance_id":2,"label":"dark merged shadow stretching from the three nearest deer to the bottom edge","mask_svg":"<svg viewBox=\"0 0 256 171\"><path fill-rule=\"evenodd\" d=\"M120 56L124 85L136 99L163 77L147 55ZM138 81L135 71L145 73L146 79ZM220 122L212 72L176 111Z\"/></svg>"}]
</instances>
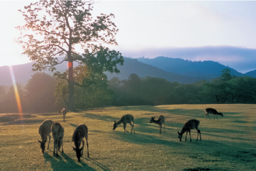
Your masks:
<instances>
[{"instance_id":1,"label":"dark merged shadow stretching from the three nearest deer to the bottom edge","mask_svg":"<svg viewBox=\"0 0 256 171\"><path fill-rule=\"evenodd\" d=\"M43 156L45 157L45 162L50 162L53 170L94 170L94 168L89 167L84 162L81 162L81 167L64 153L61 153L60 156L50 156L48 153L44 153ZM66 161L64 161L61 156L63 156Z\"/></svg>"}]
</instances>

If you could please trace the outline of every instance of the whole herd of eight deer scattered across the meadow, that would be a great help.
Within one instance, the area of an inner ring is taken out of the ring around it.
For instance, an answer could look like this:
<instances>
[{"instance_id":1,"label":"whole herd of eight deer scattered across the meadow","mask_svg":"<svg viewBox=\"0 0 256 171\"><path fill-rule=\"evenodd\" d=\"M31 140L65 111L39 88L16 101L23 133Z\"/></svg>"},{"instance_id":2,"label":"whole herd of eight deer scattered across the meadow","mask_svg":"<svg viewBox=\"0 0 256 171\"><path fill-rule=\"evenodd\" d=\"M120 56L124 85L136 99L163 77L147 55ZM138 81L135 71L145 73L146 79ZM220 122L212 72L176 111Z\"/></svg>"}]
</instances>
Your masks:
<instances>
[{"instance_id":1,"label":"whole herd of eight deer scattered across the meadow","mask_svg":"<svg viewBox=\"0 0 256 171\"><path fill-rule=\"evenodd\" d=\"M207 116L208 114L213 114L216 116L216 118L217 118L217 115L220 115L223 117L223 114L217 112L214 108L206 108L205 112ZM63 122L65 122L67 110L63 108L61 111L59 111L59 114L63 115ZM165 116L160 115L158 120L155 120L155 117L151 117L149 123L152 123L152 122L154 122L155 124L159 124L159 134L162 134L162 124L164 125L164 131L165 131ZM134 117L131 114L126 114L122 116L118 122L114 121L113 130L116 130L116 127L118 127L119 124L123 124L124 134L125 134L125 132L128 132L127 130L125 130L125 128L127 127L127 123L129 123L132 126L132 130L135 133ZM197 140L198 140L198 134L200 135L200 140L201 140L201 132L198 129L199 124L200 124L200 121L198 121L197 119L190 119L188 122L186 122L181 132L178 132L178 138L180 139L180 141L182 139L182 135L185 132L187 133L189 132L190 142L192 142L190 131L193 129L197 130ZM132 130L131 130L131 133L132 133ZM49 149L50 138L51 138L50 132L52 132L53 140L54 140L53 155L55 154L55 150L56 150L56 156L59 156L58 151L60 151L61 147L62 147L61 152L63 153L63 137L64 137L64 127L62 127L59 122L53 122L52 120L45 120L44 122L42 122L42 124L39 127L39 135L41 135L41 138L42 138L42 141L38 140L38 142L40 143L40 148L42 148L42 153L44 153L45 143L49 137L49 143L48 143L48 149ZM83 156L83 147L84 147L83 138L86 138L87 156L89 157L88 127L86 127L86 124L79 124L78 127L75 128L75 131L72 135L72 142L74 142L75 144L75 147L73 147L73 149L76 152L76 156L78 157L78 162L80 162L80 157ZM185 141L186 140L187 140L187 135L186 135ZM81 143L83 143L82 148L80 148Z\"/></svg>"}]
</instances>

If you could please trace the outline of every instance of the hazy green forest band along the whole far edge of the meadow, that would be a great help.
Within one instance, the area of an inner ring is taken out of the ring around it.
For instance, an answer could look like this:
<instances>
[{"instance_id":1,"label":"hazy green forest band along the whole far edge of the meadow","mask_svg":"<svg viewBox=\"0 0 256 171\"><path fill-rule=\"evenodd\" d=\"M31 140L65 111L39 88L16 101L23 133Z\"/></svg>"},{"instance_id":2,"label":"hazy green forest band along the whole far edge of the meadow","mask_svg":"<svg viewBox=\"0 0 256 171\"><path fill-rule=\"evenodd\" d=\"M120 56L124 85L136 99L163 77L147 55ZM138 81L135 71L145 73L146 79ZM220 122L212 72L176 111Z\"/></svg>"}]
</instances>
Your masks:
<instances>
[{"instance_id":1,"label":"hazy green forest band along the whole far edge of the meadow","mask_svg":"<svg viewBox=\"0 0 256 171\"><path fill-rule=\"evenodd\" d=\"M159 106L171 104L256 103L256 79L249 76L231 76L225 68L220 77L211 81L179 84L166 79L132 73L128 79L114 77L108 80L104 73L93 80L83 66L74 69L75 109L103 106ZM67 80L38 72L26 86L17 84L23 112L59 111L67 108ZM18 112L14 87L0 86L0 113Z\"/></svg>"}]
</instances>

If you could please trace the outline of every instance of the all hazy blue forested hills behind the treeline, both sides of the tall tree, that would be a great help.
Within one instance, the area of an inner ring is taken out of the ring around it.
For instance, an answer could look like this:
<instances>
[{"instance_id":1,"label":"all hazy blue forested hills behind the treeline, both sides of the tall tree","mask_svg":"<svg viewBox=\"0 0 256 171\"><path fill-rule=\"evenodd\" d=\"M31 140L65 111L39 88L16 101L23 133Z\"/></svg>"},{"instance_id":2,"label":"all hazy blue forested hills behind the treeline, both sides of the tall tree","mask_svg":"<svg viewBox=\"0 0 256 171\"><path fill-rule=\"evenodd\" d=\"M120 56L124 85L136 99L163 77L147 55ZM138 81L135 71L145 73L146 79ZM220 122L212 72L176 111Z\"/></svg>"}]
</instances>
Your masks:
<instances>
[{"instance_id":1,"label":"all hazy blue forested hills behind the treeline, both sides of the tall tree","mask_svg":"<svg viewBox=\"0 0 256 171\"><path fill-rule=\"evenodd\" d=\"M16 82L23 84L23 86L26 85L28 79L35 73L32 71L32 64L33 63L26 63L12 66ZM77 63L74 63L74 65L77 65ZM56 68L57 71L64 72L67 69L67 64L62 63L61 65L57 65ZM146 76L159 77L171 82L177 81L178 83L189 84L202 79L209 81L212 78L216 78L221 75L221 71L224 68L227 67L213 61L192 62L169 57L157 57L155 59L131 59L124 57L124 65L118 65L118 69L121 73L105 73L109 80L113 77L118 77L120 80L128 79L131 73L136 73L143 78ZM256 71L242 74L232 68L229 69L231 74L236 76L256 77ZM45 73L53 75L53 73L49 71L45 71ZM8 66L0 66L0 85L12 85Z\"/></svg>"}]
</instances>

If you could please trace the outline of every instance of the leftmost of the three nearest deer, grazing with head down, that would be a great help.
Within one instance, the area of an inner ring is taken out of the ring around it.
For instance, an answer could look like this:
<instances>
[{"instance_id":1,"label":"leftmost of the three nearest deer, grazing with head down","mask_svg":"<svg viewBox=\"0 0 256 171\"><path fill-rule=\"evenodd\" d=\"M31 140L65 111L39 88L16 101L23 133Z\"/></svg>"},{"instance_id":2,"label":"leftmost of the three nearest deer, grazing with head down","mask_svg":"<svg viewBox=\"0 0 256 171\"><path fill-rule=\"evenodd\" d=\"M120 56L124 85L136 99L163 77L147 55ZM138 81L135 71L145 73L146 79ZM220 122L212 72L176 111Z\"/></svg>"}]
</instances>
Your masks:
<instances>
[{"instance_id":1,"label":"leftmost of the three nearest deer, grazing with head down","mask_svg":"<svg viewBox=\"0 0 256 171\"><path fill-rule=\"evenodd\" d=\"M47 137L49 137L49 143L48 143L48 149L49 149L49 145L50 145L50 129L51 126L53 125L53 121L52 120L45 120L44 122L42 122L42 124L39 127L39 135L41 135L42 141L38 140L38 142L40 143L40 148L42 148L42 153L45 152L45 143L47 141Z\"/></svg>"}]
</instances>

